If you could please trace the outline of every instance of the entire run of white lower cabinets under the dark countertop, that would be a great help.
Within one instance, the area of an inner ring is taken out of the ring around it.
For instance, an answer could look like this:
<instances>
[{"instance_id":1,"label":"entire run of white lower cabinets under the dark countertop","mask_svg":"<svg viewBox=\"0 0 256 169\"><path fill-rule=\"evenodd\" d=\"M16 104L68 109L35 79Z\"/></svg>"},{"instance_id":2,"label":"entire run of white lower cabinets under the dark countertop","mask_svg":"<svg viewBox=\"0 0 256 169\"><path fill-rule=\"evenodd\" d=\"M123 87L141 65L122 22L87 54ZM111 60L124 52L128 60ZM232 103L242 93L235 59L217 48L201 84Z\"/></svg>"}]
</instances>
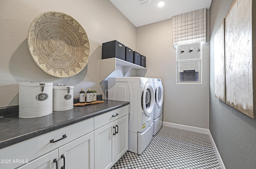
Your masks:
<instances>
[{"instance_id":1,"label":"entire run of white lower cabinets under the dark countertop","mask_svg":"<svg viewBox=\"0 0 256 169\"><path fill-rule=\"evenodd\" d=\"M0 169L109 169L128 150L128 105L0 149Z\"/></svg>"}]
</instances>

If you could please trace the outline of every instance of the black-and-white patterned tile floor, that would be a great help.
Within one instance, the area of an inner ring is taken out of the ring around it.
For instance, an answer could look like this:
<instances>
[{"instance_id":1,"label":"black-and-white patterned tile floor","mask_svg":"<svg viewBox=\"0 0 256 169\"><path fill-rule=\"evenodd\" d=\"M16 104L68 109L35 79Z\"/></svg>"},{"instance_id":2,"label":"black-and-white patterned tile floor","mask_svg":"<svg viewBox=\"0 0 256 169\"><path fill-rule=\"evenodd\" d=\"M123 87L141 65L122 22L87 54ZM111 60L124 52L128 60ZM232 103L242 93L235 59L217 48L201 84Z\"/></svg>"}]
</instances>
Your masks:
<instances>
[{"instance_id":1,"label":"black-and-white patterned tile floor","mask_svg":"<svg viewBox=\"0 0 256 169\"><path fill-rule=\"evenodd\" d=\"M210 136L162 126L145 151L127 151L111 169L221 169Z\"/></svg>"}]
</instances>

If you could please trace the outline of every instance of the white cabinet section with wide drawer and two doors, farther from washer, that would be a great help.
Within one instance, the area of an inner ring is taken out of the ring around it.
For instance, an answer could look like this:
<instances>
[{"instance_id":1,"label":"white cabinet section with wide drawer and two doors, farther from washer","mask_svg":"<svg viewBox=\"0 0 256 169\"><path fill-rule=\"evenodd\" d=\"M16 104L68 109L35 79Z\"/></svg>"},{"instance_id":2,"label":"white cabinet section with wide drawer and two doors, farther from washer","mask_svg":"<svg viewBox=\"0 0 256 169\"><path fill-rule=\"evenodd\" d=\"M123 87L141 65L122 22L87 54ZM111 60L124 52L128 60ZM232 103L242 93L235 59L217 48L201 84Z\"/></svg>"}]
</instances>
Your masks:
<instances>
[{"instance_id":1,"label":"white cabinet section with wide drawer and two doors, farther from washer","mask_svg":"<svg viewBox=\"0 0 256 169\"><path fill-rule=\"evenodd\" d=\"M0 149L0 159L8 159L0 169L64 169L62 154L66 169L81 164L81 159L80 166L94 168L94 118Z\"/></svg>"}]
</instances>

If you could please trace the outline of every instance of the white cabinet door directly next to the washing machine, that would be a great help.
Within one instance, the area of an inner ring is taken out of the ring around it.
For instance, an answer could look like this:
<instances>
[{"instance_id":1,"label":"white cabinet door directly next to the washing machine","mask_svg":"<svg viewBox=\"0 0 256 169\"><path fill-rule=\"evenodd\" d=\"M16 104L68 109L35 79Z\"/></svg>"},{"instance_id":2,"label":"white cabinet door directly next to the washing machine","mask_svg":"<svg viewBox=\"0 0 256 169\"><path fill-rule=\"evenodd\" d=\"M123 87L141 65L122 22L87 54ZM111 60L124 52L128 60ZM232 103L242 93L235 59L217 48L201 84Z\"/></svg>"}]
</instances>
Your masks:
<instances>
[{"instance_id":1,"label":"white cabinet door directly next to the washing machine","mask_svg":"<svg viewBox=\"0 0 256 169\"><path fill-rule=\"evenodd\" d=\"M115 157L116 161L124 155L128 150L128 114L115 121L116 131L115 135Z\"/></svg>"}]
</instances>

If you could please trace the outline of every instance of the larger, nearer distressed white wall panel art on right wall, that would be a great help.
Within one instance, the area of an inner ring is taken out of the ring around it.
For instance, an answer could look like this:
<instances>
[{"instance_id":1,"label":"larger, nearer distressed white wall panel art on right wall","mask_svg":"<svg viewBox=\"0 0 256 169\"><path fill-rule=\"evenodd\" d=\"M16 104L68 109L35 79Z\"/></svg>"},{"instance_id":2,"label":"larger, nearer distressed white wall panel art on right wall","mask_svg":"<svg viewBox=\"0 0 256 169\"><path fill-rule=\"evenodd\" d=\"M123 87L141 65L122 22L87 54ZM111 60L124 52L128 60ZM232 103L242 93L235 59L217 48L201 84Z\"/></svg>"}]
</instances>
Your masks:
<instances>
[{"instance_id":1,"label":"larger, nearer distressed white wall panel art on right wall","mask_svg":"<svg viewBox=\"0 0 256 169\"><path fill-rule=\"evenodd\" d=\"M234 0L225 20L226 104L252 118L256 118L255 8L255 0Z\"/></svg>"}]
</instances>

